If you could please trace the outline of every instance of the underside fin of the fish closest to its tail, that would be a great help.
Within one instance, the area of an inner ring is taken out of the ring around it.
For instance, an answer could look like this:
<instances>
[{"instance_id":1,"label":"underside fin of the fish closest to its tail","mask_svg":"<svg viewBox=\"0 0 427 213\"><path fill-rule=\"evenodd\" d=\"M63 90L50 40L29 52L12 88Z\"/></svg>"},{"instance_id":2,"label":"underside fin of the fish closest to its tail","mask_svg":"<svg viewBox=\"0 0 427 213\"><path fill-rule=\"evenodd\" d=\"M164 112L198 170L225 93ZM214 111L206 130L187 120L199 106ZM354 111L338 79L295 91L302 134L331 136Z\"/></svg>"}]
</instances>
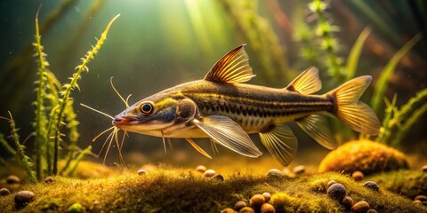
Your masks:
<instances>
[{"instance_id":1,"label":"underside fin of the fish closest to its tail","mask_svg":"<svg viewBox=\"0 0 427 213\"><path fill-rule=\"evenodd\" d=\"M336 139L327 128L326 118L320 114L311 114L305 118L295 121L311 138L327 149L337 146Z\"/></svg>"}]
</instances>

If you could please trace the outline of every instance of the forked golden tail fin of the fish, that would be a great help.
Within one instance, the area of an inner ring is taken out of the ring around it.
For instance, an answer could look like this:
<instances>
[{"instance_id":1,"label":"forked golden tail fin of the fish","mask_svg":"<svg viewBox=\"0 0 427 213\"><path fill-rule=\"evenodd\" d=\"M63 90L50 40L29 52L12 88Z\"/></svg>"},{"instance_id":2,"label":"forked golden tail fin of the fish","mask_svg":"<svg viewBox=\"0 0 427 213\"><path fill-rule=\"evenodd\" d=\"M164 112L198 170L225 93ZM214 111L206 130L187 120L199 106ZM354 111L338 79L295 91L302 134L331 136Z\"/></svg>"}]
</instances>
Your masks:
<instances>
[{"instance_id":1,"label":"forked golden tail fin of the fish","mask_svg":"<svg viewBox=\"0 0 427 213\"><path fill-rule=\"evenodd\" d=\"M369 75L353 78L326 95L335 100L334 114L352 130L378 135L381 128L378 117L369 106L359 101L371 80Z\"/></svg>"}]
</instances>

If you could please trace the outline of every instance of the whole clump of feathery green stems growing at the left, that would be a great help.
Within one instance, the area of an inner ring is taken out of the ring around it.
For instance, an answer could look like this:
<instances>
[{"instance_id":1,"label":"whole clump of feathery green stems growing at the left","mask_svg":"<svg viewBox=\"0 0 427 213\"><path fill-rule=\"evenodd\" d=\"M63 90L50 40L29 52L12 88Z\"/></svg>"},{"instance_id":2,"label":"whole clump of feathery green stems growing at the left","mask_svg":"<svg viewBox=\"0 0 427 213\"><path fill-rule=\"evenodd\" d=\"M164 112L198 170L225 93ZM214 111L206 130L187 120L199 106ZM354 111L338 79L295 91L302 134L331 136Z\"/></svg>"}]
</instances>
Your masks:
<instances>
[{"instance_id":1,"label":"whole clump of feathery green stems growing at the left","mask_svg":"<svg viewBox=\"0 0 427 213\"><path fill-rule=\"evenodd\" d=\"M77 81L81 78L83 71L88 71L87 64L94 58L94 55L100 50L102 43L107 38L109 28L119 15L110 20L109 25L103 31L101 38L97 40L92 50L87 51L85 57L82 58L82 64L77 66L77 72L73 74L69 80L70 83L63 86L56 79L55 75L48 69L49 62L46 59L47 54L44 53L44 47L41 44L40 28L38 25L38 12L36 13L36 36L35 43L35 56L37 61L37 80L36 80L36 100L33 105L35 110L34 121L34 142L35 142L35 165L31 159L24 153L25 147L20 144L18 131L11 118L12 136L15 149L9 146L3 135L0 135L0 143L11 154L18 154L22 168L27 171L28 179L30 182L35 182L36 179L40 180L45 175L58 174L58 161L59 161L59 146L61 137L65 133L60 130L62 125L66 124L68 128L68 154L67 163L61 170L61 174L71 174L76 170L78 162L81 162L85 154L91 153L91 146L81 151L77 147L77 140L79 137L77 130L77 114L73 108L73 100L70 98L71 91L78 89ZM49 115L47 115L49 114ZM76 156L76 151L80 154ZM71 162L74 164L70 167ZM35 168L33 168L35 167Z\"/></svg>"}]
</instances>

